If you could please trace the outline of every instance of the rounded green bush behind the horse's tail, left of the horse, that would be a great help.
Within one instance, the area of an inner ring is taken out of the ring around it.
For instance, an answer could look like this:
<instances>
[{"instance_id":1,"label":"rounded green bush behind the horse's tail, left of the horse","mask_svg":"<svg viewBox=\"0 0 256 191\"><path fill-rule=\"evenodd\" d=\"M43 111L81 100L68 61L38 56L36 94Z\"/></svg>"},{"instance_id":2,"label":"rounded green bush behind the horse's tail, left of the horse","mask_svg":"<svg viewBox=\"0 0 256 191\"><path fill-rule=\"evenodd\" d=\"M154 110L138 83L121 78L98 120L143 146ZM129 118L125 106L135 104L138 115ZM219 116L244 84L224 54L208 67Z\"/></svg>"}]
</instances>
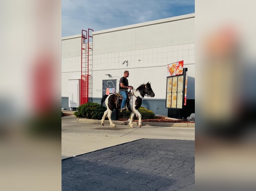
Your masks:
<instances>
[{"instance_id":1,"label":"rounded green bush behind the horse's tail, left of the horse","mask_svg":"<svg viewBox=\"0 0 256 191\"><path fill-rule=\"evenodd\" d=\"M107 107L101 107L99 103L89 102L80 105L77 108L77 111L74 112L74 115L76 117L83 117L87 119L101 119L106 109Z\"/></svg>"}]
</instances>

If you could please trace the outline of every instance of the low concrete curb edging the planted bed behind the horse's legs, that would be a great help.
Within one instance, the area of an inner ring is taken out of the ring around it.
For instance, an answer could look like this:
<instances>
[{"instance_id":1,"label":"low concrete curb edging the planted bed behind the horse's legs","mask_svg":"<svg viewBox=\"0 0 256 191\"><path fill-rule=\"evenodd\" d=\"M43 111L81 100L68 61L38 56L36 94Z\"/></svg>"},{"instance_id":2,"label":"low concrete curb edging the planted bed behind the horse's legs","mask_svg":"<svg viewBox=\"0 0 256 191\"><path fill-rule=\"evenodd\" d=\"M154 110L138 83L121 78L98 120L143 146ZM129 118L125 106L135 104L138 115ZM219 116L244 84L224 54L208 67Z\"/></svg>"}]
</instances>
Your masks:
<instances>
[{"instance_id":1,"label":"low concrete curb edging the planted bed behind the horse's legs","mask_svg":"<svg viewBox=\"0 0 256 191\"><path fill-rule=\"evenodd\" d=\"M113 120L112 120L113 121ZM86 118L78 118L77 122L87 122L87 123L101 123L101 120L97 119L86 119ZM128 121L113 121L116 125L128 125ZM104 121L105 124L110 124L109 120ZM138 122L133 121L132 124L134 126L138 126ZM141 126L162 126L162 127L194 127L195 123L161 123L161 122L141 122Z\"/></svg>"}]
</instances>

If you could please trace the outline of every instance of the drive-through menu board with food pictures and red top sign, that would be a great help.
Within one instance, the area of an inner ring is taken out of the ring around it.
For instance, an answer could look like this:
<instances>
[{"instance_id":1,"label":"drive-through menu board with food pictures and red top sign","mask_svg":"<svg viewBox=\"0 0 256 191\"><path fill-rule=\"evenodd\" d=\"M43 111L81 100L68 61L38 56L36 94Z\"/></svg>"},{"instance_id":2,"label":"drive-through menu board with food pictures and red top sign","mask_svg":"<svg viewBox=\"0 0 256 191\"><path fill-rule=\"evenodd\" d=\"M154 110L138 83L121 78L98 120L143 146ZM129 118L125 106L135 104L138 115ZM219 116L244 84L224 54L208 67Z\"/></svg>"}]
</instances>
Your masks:
<instances>
[{"instance_id":1,"label":"drive-through menu board with food pictures and red top sign","mask_svg":"<svg viewBox=\"0 0 256 191\"><path fill-rule=\"evenodd\" d=\"M172 69L170 69L171 67ZM180 71L180 67L182 71ZM183 61L180 61L167 65L167 71L165 107L182 109L186 103L186 97L184 95L186 95L185 83L187 68L183 68Z\"/></svg>"}]
</instances>

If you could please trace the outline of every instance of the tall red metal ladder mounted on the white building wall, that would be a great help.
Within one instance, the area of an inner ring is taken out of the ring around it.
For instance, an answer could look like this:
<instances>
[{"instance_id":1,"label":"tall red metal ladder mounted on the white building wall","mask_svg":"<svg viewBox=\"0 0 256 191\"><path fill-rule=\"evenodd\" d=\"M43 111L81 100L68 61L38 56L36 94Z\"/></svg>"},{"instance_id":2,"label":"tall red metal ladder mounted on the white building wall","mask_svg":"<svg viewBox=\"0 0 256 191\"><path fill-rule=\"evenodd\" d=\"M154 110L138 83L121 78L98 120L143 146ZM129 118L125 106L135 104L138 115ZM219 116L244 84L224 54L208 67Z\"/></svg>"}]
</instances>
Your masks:
<instances>
[{"instance_id":1,"label":"tall red metal ladder mounted on the white building wall","mask_svg":"<svg viewBox=\"0 0 256 191\"><path fill-rule=\"evenodd\" d=\"M89 53L92 53L92 43L90 45L89 40L93 38L90 35L93 32L92 29L88 28L88 31L82 30L82 42L81 42L81 105L88 103L89 97ZM88 40L86 42L86 39ZM92 54L91 54L92 61Z\"/></svg>"}]
</instances>

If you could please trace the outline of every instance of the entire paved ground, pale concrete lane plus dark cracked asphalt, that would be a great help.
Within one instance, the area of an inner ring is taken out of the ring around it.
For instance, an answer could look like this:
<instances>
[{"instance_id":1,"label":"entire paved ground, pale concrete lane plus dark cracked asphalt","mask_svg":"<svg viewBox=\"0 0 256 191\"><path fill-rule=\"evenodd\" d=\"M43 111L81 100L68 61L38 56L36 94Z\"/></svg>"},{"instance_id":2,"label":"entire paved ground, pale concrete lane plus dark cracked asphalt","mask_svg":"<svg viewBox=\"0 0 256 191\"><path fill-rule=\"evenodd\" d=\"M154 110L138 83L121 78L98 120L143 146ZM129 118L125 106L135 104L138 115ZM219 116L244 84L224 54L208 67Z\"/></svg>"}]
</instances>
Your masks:
<instances>
[{"instance_id":1,"label":"entire paved ground, pale concrete lane plus dark cracked asphalt","mask_svg":"<svg viewBox=\"0 0 256 191\"><path fill-rule=\"evenodd\" d=\"M113 128L63 118L62 190L193 191L194 131L182 127Z\"/></svg>"}]
</instances>

